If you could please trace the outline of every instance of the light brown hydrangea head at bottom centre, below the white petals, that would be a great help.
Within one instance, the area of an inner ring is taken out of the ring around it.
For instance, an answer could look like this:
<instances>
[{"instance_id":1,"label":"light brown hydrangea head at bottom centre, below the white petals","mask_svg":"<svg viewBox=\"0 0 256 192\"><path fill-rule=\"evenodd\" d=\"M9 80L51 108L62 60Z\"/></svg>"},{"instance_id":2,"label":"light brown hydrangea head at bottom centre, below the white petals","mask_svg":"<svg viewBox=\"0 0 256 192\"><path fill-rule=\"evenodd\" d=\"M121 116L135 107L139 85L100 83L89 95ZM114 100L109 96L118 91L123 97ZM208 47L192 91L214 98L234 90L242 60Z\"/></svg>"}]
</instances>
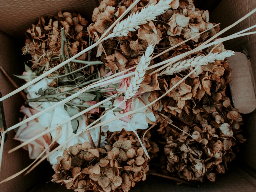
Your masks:
<instances>
[{"instance_id":1,"label":"light brown hydrangea head at bottom centre, below the white petals","mask_svg":"<svg viewBox=\"0 0 256 192\"><path fill-rule=\"evenodd\" d=\"M130 140L119 140L103 149L88 142L76 144L57 159L52 181L78 192L127 192L146 179L149 169L143 148L135 147Z\"/></svg>"}]
</instances>

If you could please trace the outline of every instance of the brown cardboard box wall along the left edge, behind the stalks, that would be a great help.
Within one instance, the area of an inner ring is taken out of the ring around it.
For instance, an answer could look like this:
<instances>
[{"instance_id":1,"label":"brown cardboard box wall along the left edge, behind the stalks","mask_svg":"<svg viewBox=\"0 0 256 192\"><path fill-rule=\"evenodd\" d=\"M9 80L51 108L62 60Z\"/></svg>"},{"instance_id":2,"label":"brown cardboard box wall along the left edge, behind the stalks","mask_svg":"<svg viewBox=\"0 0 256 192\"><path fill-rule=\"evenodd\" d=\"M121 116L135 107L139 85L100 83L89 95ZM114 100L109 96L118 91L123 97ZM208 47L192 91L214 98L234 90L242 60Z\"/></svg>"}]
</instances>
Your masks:
<instances>
[{"instance_id":1,"label":"brown cardboard box wall along the left edge, behind the stalks","mask_svg":"<svg viewBox=\"0 0 256 192\"><path fill-rule=\"evenodd\" d=\"M11 77L12 74L20 74L23 67L23 63L19 61L20 50L16 46L15 42L10 40L2 33L0 33L0 66L2 66ZM15 55L15 56L14 56ZM19 67L20 66L20 67ZM22 67L21 67L22 66ZM14 78L18 82L16 78ZM6 95L14 90L12 84L3 76L0 72L0 91L2 95ZM5 112L5 119L7 128L18 123L19 120L19 108L23 103L22 97L19 94L6 99L3 101L3 109ZM3 159L2 159L2 168L0 181L3 179L21 171L23 168L28 166L31 163L29 160L28 152L20 149L15 151L12 154L8 154L8 150L16 147L20 142L13 140L15 132L8 132L8 140L4 145L3 150ZM41 177L40 174L35 176L36 172L33 172L31 175L24 177L20 175L14 180L8 181L0 185L1 192L22 192L28 190L32 184L37 182Z\"/></svg>"}]
</instances>

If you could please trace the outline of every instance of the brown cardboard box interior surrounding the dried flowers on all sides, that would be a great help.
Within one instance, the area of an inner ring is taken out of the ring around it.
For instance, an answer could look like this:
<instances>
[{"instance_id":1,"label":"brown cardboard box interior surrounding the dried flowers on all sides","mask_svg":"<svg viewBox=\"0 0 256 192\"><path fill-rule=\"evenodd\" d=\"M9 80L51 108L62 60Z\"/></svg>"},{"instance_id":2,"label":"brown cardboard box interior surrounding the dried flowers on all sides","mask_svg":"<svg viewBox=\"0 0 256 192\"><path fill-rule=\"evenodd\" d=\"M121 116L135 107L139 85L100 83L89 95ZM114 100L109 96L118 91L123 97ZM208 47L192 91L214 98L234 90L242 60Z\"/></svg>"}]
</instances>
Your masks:
<instances>
[{"instance_id":1,"label":"brown cardboard box interior surrounding the dried flowers on all sides","mask_svg":"<svg viewBox=\"0 0 256 192\"><path fill-rule=\"evenodd\" d=\"M232 24L256 7L256 0L222 0L216 7L219 2L220 0L196 0L195 3L199 8L210 10L211 20L221 23L221 28ZM97 0L0 0L0 65L9 75L19 75L22 73L24 68L23 61L26 60L20 50L24 45L24 33L38 17L53 15L59 10L65 10L78 12L85 18L90 19L93 9L98 5L99 1ZM224 35L256 24L255 18L255 15L251 16ZM255 36L251 35L225 43L226 49L234 51L247 50L248 55L250 55L254 77L256 76ZM15 77L13 79L18 84L23 83ZM2 74L0 74L0 82L2 95L6 95L14 90L14 87ZM23 99L19 94L3 102L7 127L18 122L18 117L20 117L18 111L22 103ZM206 182L197 189L187 185L176 185L175 182L167 179L148 176L145 182L136 184L131 191L256 191L256 174L253 172L256 170L256 112L254 111L243 117L245 137L248 141L241 146L241 153L238 155L239 157L236 162L230 166L230 171L227 171L225 175L217 175L216 183ZM0 180L17 173L31 162L28 159L27 151L23 149L8 154L7 151L9 149L18 145L17 141L11 139L13 136L14 132L10 132L8 134L9 139L5 143ZM14 180L2 184L0 191L70 191L66 190L64 186L49 182L52 174L51 166L48 162L45 162L28 176L23 177L23 175L20 175Z\"/></svg>"}]
</instances>

